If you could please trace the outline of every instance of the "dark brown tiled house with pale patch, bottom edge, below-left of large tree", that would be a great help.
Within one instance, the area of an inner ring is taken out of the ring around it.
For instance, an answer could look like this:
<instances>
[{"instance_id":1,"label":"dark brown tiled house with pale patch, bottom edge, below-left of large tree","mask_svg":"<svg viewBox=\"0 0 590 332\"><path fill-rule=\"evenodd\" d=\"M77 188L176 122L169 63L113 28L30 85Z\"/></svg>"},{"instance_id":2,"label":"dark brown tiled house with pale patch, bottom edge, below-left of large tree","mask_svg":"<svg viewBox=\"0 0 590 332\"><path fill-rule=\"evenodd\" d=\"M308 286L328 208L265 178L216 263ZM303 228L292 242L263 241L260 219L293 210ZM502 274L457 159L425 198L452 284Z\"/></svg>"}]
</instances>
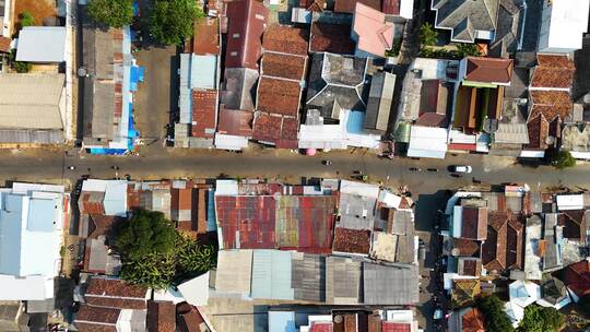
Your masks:
<instances>
[{"instance_id":1,"label":"dark brown tiled house with pale patch, bottom edge, below-left of large tree","mask_svg":"<svg viewBox=\"0 0 590 332\"><path fill-rule=\"evenodd\" d=\"M149 290L118 278L84 275L82 304L73 325L80 331L145 331Z\"/></svg>"}]
</instances>

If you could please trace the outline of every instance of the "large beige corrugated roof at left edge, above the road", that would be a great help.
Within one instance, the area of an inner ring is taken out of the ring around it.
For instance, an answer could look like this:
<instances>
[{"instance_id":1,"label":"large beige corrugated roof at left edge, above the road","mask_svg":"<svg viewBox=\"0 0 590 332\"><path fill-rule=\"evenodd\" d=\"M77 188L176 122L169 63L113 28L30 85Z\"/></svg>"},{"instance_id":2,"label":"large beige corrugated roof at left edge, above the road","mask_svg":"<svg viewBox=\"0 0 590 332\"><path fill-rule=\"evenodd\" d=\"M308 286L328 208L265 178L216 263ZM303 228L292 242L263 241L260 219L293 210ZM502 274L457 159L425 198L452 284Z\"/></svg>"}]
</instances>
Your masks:
<instances>
[{"instance_id":1,"label":"large beige corrugated roof at left edge, above the road","mask_svg":"<svg viewBox=\"0 0 590 332\"><path fill-rule=\"evenodd\" d=\"M0 74L1 129L63 129L63 74Z\"/></svg>"}]
</instances>

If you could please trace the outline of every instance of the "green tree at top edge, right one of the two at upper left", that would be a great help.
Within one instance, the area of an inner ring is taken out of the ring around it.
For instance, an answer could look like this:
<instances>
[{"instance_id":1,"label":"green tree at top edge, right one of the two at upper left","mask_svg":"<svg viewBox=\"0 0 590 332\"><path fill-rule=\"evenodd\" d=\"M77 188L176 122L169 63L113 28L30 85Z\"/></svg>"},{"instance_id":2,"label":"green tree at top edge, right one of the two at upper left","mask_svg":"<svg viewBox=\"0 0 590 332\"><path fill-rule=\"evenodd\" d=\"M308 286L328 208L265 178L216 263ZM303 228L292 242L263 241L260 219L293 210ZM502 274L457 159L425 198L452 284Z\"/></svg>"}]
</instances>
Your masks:
<instances>
[{"instance_id":1,"label":"green tree at top edge, right one of the two at upper left","mask_svg":"<svg viewBox=\"0 0 590 332\"><path fill-rule=\"evenodd\" d=\"M153 0L149 16L150 35L158 43L181 45L193 34L194 20L204 17L193 0Z\"/></svg>"}]
</instances>

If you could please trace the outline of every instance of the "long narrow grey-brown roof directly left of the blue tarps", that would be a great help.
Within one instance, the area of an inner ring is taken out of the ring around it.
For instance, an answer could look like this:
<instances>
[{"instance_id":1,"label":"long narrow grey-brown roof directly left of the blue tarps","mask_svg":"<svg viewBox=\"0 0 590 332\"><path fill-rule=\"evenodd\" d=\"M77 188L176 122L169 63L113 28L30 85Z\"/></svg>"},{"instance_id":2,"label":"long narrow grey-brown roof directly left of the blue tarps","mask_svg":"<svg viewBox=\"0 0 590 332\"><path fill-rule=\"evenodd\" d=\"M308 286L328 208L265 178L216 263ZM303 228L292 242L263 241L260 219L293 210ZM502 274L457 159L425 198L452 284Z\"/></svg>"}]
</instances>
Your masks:
<instances>
[{"instance_id":1,"label":"long narrow grey-brown roof directly left of the blue tarps","mask_svg":"<svg viewBox=\"0 0 590 332\"><path fill-rule=\"evenodd\" d=\"M82 28L84 78L84 138L111 140L115 115L115 54L122 52L121 40L110 31Z\"/></svg>"}]
</instances>

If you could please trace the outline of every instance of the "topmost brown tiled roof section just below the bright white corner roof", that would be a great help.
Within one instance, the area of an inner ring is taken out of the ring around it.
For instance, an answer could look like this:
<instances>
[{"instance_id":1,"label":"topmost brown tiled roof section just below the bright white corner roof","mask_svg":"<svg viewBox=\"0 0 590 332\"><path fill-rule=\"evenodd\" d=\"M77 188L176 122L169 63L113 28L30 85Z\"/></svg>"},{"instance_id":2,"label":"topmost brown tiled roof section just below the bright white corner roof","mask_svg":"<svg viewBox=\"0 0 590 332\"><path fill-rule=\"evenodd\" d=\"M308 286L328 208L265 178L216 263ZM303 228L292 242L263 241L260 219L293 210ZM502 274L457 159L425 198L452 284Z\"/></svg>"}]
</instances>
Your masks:
<instances>
[{"instance_id":1,"label":"topmost brown tiled roof section just below the bright white corner roof","mask_svg":"<svg viewBox=\"0 0 590 332\"><path fill-rule=\"evenodd\" d=\"M532 87L571 87L576 67L567 56L538 55L538 66L533 69Z\"/></svg>"}]
</instances>

